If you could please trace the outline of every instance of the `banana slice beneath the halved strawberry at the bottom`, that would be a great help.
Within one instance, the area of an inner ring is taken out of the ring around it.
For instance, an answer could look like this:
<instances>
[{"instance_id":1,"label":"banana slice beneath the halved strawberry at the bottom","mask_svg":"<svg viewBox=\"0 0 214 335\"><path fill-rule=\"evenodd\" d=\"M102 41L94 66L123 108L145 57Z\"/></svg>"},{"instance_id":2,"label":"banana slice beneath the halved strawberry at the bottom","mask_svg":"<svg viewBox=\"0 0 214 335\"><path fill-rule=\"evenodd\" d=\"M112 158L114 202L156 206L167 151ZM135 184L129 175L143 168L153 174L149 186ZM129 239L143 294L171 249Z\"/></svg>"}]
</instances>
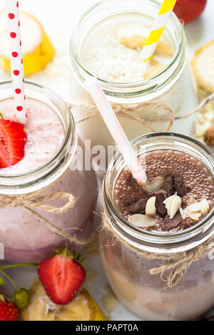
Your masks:
<instances>
[{"instance_id":1,"label":"banana slice beneath the halved strawberry at the bottom","mask_svg":"<svg viewBox=\"0 0 214 335\"><path fill-rule=\"evenodd\" d=\"M30 289L31 302L21 309L24 321L105 321L101 309L86 289L67 305L56 305L47 297L41 282Z\"/></svg>"}]
</instances>

